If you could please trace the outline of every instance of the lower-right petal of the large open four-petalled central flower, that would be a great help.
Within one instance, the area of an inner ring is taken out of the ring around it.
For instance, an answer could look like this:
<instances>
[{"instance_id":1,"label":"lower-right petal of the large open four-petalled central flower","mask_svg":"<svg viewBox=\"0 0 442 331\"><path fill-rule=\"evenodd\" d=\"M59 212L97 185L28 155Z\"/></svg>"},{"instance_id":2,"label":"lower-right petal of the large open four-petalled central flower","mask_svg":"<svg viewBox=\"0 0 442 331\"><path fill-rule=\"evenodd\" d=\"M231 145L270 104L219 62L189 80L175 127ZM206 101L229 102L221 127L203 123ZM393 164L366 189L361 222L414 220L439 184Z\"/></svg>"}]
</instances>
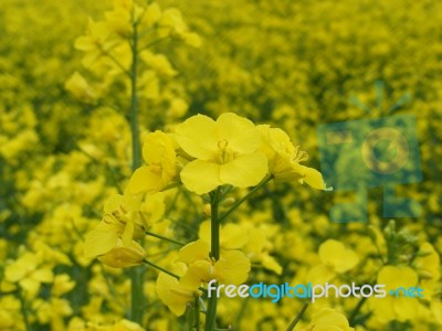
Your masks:
<instances>
[{"instance_id":1,"label":"lower-right petal of the large open four-petalled central flower","mask_svg":"<svg viewBox=\"0 0 442 331\"><path fill-rule=\"evenodd\" d=\"M261 152L241 156L220 167L223 184L238 188L256 185L267 173L267 159Z\"/></svg>"}]
</instances>

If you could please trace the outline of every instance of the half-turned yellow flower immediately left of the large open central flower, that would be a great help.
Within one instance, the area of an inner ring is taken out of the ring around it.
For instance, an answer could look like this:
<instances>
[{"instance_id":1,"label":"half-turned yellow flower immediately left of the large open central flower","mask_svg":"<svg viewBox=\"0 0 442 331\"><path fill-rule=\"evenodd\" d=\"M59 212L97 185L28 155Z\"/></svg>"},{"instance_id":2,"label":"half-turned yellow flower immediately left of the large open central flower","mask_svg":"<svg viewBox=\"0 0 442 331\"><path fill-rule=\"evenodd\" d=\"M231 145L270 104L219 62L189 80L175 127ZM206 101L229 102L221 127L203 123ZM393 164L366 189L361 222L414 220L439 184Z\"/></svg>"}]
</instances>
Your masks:
<instances>
[{"instance_id":1,"label":"half-turned yellow flower immediately left of the large open central flower","mask_svg":"<svg viewBox=\"0 0 442 331\"><path fill-rule=\"evenodd\" d=\"M127 190L134 194L156 193L170 184L177 174L176 152L171 138L159 130L147 135L143 146L147 166L137 169Z\"/></svg>"}]
</instances>

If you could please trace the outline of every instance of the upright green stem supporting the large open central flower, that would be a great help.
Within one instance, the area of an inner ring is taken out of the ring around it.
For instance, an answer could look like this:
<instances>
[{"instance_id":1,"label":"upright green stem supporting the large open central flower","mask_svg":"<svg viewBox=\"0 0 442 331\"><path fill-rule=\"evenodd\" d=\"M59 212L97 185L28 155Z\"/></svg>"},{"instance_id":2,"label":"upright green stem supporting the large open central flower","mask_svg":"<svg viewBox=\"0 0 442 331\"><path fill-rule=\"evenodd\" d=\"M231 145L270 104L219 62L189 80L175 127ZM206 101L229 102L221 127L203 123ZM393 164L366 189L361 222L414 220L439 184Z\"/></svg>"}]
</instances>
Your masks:
<instances>
[{"instance_id":1,"label":"upright green stem supporting the large open central flower","mask_svg":"<svg viewBox=\"0 0 442 331\"><path fill-rule=\"evenodd\" d=\"M211 207L211 249L210 254L214 260L220 259L220 222L218 206L220 203L220 189L211 193L210 207ZM215 288L218 284L214 285ZM209 305L206 314L206 328L204 331L213 331L215 329L217 321L217 296L212 293L209 298Z\"/></svg>"}]
</instances>

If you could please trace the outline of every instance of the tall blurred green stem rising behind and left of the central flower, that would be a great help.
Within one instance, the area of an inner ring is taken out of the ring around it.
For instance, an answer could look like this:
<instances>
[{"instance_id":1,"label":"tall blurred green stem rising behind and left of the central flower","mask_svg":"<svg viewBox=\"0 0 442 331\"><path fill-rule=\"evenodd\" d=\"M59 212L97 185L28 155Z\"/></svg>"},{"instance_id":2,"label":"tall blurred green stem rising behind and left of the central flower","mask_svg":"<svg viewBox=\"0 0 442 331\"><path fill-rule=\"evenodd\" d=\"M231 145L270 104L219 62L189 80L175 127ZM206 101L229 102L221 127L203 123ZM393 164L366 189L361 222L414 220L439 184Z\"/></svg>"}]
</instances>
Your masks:
<instances>
[{"instance_id":1,"label":"tall blurred green stem rising behind and left of the central flower","mask_svg":"<svg viewBox=\"0 0 442 331\"><path fill-rule=\"evenodd\" d=\"M131 40L131 68L130 68L130 132L133 163L131 170L135 171L141 162L141 146L138 131L138 96L137 96L137 71L138 71L138 31L137 24L133 24L134 34ZM144 270L141 268L131 268L129 270L131 286L130 318L134 322L143 323L143 307L146 306L144 296Z\"/></svg>"}]
</instances>

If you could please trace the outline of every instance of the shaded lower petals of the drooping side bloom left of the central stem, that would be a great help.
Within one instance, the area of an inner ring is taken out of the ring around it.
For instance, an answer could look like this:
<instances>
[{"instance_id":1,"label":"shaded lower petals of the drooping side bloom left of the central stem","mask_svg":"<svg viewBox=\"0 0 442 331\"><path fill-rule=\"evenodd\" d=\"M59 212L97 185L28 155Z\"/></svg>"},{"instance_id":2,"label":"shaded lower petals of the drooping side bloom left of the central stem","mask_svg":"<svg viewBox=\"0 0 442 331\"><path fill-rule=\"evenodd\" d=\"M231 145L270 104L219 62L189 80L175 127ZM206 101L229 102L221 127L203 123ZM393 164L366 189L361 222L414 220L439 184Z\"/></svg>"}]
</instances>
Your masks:
<instances>
[{"instance_id":1,"label":"shaded lower petals of the drooping side bloom left of the central stem","mask_svg":"<svg viewBox=\"0 0 442 331\"><path fill-rule=\"evenodd\" d=\"M145 256L145 249L137 242L131 241L130 245L126 246L118 239L116 246L98 259L113 268L127 268L143 264Z\"/></svg>"}]
</instances>

